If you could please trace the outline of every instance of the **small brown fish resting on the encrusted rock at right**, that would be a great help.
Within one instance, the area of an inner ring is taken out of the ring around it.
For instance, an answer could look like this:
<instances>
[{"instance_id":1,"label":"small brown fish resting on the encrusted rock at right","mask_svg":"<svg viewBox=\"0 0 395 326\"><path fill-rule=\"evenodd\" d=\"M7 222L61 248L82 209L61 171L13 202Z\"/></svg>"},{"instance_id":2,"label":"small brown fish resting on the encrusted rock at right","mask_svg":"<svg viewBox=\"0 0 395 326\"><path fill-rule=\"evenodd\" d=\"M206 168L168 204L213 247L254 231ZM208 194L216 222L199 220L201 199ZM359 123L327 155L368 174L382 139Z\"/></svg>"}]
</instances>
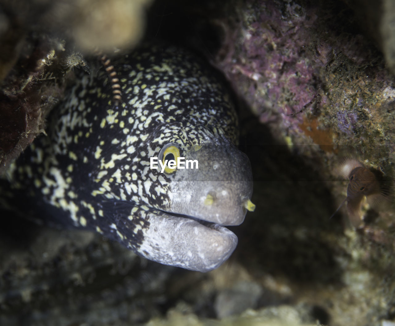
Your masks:
<instances>
[{"instance_id":1,"label":"small brown fish resting on the encrusted rock at right","mask_svg":"<svg viewBox=\"0 0 395 326\"><path fill-rule=\"evenodd\" d=\"M363 213L361 211L361 205L365 201L365 198L369 205L375 205L384 199L385 196L376 175L368 168L365 168L361 162L352 158L345 159L342 163L340 173L348 179L349 183L347 187L347 198L340 204L336 212L347 202L348 218L352 225L358 228L362 222Z\"/></svg>"}]
</instances>

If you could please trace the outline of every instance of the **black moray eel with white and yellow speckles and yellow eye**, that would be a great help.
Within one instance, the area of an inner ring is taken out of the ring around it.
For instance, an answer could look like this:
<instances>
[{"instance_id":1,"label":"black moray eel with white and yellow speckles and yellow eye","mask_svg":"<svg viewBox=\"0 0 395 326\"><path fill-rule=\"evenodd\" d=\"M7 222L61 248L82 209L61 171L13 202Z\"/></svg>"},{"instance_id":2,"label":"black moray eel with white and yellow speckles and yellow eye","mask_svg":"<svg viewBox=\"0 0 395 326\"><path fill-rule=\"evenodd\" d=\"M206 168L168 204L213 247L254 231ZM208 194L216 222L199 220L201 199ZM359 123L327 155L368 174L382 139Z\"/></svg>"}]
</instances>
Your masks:
<instances>
[{"instance_id":1,"label":"black moray eel with white and yellow speckles and yellow eye","mask_svg":"<svg viewBox=\"0 0 395 326\"><path fill-rule=\"evenodd\" d=\"M254 205L237 115L214 69L150 44L78 76L48 136L11 165L2 205L38 207L42 219L94 230L162 264L220 266L237 245L224 225L241 224ZM150 157L199 165L161 173Z\"/></svg>"}]
</instances>

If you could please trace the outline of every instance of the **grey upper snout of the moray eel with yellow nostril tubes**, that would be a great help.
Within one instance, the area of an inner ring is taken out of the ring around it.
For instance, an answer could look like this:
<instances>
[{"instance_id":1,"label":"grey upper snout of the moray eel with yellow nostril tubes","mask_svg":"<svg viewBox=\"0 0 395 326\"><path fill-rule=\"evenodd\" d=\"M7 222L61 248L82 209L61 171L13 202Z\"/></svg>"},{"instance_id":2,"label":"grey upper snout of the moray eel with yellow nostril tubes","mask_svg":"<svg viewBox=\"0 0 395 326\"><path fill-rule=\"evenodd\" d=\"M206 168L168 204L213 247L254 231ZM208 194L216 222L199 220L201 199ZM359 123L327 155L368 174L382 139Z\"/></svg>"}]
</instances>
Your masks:
<instances>
[{"instance_id":1,"label":"grey upper snout of the moray eel with yellow nostril tubes","mask_svg":"<svg viewBox=\"0 0 395 326\"><path fill-rule=\"evenodd\" d=\"M229 145L203 146L185 159L197 160L199 168L169 175L170 200L164 209L221 225L241 224L254 206L248 157Z\"/></svg>"}]
</instances>

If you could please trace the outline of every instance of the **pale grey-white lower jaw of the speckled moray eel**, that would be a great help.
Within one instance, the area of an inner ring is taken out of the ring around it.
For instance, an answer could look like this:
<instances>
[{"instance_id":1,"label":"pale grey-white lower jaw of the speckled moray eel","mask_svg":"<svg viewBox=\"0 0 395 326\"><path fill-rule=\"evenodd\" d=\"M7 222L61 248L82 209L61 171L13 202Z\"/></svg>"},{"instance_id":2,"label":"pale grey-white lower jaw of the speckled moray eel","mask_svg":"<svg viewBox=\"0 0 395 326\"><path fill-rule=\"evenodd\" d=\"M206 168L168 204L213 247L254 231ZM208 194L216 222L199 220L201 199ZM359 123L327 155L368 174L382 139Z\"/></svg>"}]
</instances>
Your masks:
<instances>
[{"instance_id":1,"label":"pale grey-white lower jaw of the speckled moray eel","mask_svg":"<svg viewBox=\"0 0 395 326\"><path fill-rule=\"evenodd\" d=\"M218 268L233 253L237 236L226 227L163 212L149 213L139 253L161 264L193 271Z\"/></svg>"}]
</instances>

